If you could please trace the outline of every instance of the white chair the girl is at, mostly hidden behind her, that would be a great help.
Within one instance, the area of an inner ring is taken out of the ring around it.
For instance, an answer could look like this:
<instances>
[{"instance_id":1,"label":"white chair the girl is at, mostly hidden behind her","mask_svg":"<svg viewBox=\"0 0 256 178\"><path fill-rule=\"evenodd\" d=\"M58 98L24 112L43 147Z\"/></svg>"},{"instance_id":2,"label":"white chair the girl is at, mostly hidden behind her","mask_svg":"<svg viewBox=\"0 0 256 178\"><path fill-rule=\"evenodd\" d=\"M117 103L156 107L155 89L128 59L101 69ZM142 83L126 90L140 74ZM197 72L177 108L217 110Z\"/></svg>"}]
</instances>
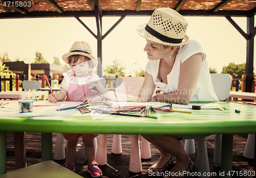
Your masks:
<instances>
[{"instance_id":1,"label":"white chair the girl is at, mostly hidden behind her","mask_svg":"<svg viewBox=\"0 0 256 178\"><path fill-rule=\"evenodd\" d=\"M106 80L104 78L99 78L99 81L102 86L104 86L104 87L106 86ZM94 138L94 145L95 145L96 151L97 151L97 147L98 147L98 140L99 140L99 136ZM54 160L65 159L65 138L60 133L57 133L57 136L56 136L56 143L55 143L53 159Z\"/></svg>"}]
</instances>

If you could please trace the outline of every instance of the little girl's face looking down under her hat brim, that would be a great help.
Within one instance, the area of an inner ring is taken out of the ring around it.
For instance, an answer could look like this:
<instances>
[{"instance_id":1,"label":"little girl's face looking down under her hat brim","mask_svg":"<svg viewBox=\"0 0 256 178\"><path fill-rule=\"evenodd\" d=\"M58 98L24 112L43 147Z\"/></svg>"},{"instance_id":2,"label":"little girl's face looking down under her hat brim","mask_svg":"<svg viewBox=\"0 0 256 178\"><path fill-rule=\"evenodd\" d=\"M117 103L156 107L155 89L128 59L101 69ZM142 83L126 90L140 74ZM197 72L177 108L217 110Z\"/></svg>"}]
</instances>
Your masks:
<instances>
[{"instance_id":1,"label":"little girl's face looking down under her hat brim","mask_svg":"<svg viewBox=\"0 0 256 178\"><path fill-rule=\"evenodd\" d=\"M77 78L86 78L89 70L89 61L82 62L79 58L76 63L70 63L71 68Z\"/></svg>"}]
</instances>

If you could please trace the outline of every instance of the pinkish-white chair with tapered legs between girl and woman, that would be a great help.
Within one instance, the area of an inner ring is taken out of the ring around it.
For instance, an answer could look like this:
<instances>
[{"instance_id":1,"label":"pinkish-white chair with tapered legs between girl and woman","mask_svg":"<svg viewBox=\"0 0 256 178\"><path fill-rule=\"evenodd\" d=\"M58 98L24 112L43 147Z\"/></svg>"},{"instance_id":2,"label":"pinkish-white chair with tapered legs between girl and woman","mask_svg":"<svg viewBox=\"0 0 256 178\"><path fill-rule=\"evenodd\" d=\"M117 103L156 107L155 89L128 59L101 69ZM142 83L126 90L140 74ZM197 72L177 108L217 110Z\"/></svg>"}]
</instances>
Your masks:
<instances>
[{"instance_id":1,"label":"pinkish-white chair with tapered legs between girl and woman","mask_svg":"<svg viewBox=\"0 0 256 178\"><path fill-rule=\"evenodd\" d=\"M144 77L125 77L125 78L117 78L116 79L116 91L118 87L123 91L124 94L129 95L138 95L139 90L142 87L144 82ZM121 135L114 135L113 143L112 143L112 153L113 154L121 154L122 146L121 146ZM147 142L143 137L141 138L141 152L139 146L139 135L132 135L132 145L131 145L131 155L130 155L130 167L129 170L131 172L141 172L142 159L150 159L151 158L151 150L150 143ZM106 164L106 135L100 135L98 151L96 154L96 162L100 165Z\"/></svg>"}]
</instances>

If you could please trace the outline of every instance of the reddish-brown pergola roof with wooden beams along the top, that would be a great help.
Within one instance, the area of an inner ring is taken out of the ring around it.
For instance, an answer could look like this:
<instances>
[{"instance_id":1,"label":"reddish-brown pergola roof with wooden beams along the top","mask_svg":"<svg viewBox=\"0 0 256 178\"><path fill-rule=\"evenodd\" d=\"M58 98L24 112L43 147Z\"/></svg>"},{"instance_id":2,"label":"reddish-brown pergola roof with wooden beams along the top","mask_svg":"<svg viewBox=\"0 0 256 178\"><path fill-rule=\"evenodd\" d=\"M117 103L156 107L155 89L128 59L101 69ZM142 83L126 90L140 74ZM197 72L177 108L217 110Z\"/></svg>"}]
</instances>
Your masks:
<instances>
[{"instance_id":1,"label":"reddish-brown pergola roof with wooden beams along the top","mask_svg":"<svg viewBox=\"0 0 256 178\"><path fill-rule=\"evenodd\" d=\"M95 6L102 16L151 15L154 9L162 7L191 16L248 17L256 13L255 0L22 0L22 6L16 4L17 7L15 2L21 0L0 1L0 18L94 16Z\"/></svg>"}]
</instances>

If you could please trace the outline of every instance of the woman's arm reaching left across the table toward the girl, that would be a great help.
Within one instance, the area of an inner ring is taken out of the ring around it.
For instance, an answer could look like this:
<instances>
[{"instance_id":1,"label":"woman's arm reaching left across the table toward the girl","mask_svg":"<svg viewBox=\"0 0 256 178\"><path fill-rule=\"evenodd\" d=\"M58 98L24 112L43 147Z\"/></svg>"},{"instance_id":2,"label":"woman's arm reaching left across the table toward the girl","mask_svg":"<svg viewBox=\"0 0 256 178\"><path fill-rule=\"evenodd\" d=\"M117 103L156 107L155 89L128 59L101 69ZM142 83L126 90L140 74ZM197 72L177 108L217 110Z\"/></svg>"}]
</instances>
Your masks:
<instances>
[{"instance_id":1,"label":"woman's arm reaching left across the table toward the girl","mask_svg":"<svg viewBox=\"0 0 256 178\"><path fill-rule=\"evenodd\" d=\"M108 98L109 100L116 100L118 98L119 101L147 102L151 99L156 86L153 82L152 75L145 72L145 79L138 96L109 91L100 85L99 82L91 82L89 88L93 88L91 89L92 93Z\"/></svg>"}]
</instances>

